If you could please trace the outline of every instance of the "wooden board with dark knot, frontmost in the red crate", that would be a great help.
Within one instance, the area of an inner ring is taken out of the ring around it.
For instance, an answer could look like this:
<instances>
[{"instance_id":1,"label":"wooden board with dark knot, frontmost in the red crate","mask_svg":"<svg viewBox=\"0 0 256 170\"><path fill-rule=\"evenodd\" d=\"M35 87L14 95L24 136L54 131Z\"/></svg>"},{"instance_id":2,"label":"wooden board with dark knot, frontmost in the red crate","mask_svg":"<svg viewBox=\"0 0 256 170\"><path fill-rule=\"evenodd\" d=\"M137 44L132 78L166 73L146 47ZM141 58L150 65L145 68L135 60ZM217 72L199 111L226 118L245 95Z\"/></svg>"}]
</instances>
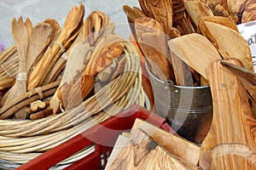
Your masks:
<instances>
[{"instance_id":1,"label":"wooden board with dark knot, frontmost in the red crate","mask_svg":"<svg viewBox=\"0 0 256 170\"><path fill-rule=\"evenodd\" d=\"M152 139L139 129L134 129L128 139L128 145L123 145L119 156L109 166L113 169L186 169L176 158L168 155Z\"/></svg>"}]
</instances>

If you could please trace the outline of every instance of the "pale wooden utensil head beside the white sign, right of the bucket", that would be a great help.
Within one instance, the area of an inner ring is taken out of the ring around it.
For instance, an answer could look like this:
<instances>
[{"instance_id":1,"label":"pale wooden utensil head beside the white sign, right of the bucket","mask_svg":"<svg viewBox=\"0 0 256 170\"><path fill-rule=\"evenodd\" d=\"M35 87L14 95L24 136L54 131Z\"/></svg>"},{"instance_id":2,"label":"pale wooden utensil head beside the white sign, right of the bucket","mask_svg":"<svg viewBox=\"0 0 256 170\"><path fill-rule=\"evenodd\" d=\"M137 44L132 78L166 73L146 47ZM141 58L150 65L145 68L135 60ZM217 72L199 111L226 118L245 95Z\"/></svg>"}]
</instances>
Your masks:
<instances>
[{"instance_id":1,"label":"pale wooden utensil head beside the white sign, right of the bucket","mask_svg":"<svg viewBox=\"0 0 256 170\"><path fill-rule=\"evenodd\" d=\"M239 59L242 65L253 71L251 50L239 32L209 21L204 21L203 26L205 26L204 36L212 42L224 59Z\"/></svg>"}]
</instances>

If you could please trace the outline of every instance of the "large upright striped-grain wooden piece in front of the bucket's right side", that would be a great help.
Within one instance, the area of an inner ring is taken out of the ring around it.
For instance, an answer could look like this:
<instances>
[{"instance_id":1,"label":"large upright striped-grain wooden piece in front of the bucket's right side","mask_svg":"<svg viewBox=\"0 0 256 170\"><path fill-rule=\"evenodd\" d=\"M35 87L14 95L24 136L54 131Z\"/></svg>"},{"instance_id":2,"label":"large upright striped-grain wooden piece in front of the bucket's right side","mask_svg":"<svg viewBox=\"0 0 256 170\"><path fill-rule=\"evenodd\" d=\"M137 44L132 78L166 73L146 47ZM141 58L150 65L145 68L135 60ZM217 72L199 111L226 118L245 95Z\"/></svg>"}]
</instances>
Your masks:
<instances>
[{"instance_id":1,"label":"large upright striped-grain wooden piece in front of the bucket's right side","mask_svg":"<svg viewBox=\"0 0 256 170\"><path fill-rule=\"evenodd\" d=\"M255 169L256 123L245 88L236 75L221 65L221 60L207 68L207 77L212 91L213 117L212 127L201 145L200 166L203 169Z\"/></svg>"}]
</instances>

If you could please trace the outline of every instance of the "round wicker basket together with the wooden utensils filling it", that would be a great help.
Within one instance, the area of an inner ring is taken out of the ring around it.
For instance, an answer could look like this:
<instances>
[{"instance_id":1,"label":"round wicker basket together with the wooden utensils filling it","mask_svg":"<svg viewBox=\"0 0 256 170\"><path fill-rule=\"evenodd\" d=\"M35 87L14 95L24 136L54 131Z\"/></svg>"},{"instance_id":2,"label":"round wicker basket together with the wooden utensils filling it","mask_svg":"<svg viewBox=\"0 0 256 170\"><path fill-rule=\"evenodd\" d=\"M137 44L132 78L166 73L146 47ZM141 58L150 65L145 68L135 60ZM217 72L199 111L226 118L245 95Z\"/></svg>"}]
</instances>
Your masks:
<instances>
[{"instance_id":1,"label":"round wicker basket together with the wooden utensils filling it","mask_svg":"<svg viewBox=\"0 0 256 170\"><path fill-rule=\"evenodd\" d=\"M0 54L1 159L25 163L130 105L144 106L137 48L106 14L84 20L84 9L74 6L62 27L12 20L15 45Z\"/></svg>"}]
</instances>

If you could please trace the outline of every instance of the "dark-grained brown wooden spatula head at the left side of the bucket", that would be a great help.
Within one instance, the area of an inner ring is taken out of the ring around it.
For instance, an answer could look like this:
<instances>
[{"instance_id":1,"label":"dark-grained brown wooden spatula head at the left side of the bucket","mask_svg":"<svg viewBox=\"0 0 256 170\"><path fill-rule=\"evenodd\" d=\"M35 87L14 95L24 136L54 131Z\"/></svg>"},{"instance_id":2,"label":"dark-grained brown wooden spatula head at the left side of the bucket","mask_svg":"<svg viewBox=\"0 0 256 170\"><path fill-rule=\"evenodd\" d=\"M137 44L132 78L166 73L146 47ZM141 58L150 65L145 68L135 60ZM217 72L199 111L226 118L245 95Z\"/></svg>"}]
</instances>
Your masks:
<instances>
[{"instance_id":1,"label":"dark-grained brown wooden spatula head at the left side of the bucket","mask_svg":"<svg viewBox=\"0 0 256 170\"><path fill-rule=\"evenodd\" d=\"M151 65L152 72L162 81L171 79L171 65L167 52L167 35L157 20L144 17L135 20L139 47Z\"/></svg>"}]
</instances>

